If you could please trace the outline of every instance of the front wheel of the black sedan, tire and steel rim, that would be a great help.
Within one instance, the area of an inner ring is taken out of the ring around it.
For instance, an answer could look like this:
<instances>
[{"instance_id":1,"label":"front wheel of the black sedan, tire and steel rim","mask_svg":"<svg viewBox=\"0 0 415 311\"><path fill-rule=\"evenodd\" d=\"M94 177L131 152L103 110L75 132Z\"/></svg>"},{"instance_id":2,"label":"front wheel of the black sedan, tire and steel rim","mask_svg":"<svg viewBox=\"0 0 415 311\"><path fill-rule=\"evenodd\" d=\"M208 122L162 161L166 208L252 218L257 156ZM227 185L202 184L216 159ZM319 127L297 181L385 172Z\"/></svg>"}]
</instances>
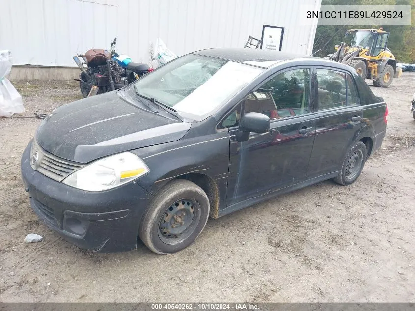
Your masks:
<instances>
[{"instance_id":1,"label":"front wheel of the black sedan, tire and steel rim","mask_svg":"<svg viewBox=\"0 0 415 311\"><path fill-rule=\"evenodd\" d=\"M138 235L154 253L178 252L194 242L208 217L209 199L202 188L191 181L176 179L155 195L142 218Z\"/></svg>"}]
</instances>

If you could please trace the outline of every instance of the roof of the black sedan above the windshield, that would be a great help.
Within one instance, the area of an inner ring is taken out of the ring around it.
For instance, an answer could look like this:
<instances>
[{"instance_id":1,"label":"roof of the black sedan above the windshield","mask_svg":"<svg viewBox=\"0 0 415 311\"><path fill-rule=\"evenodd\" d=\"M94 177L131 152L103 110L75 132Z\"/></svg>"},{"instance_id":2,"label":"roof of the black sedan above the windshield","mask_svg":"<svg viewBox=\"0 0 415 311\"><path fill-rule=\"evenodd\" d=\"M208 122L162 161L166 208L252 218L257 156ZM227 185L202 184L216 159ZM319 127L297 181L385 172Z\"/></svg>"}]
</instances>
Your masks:
<instances>
[{"instance_id":1,"label":"roof of the black sedan above the windshield","mask_svg":"<svg viewBox=\"0 0 415 311\"><path fill-rule=\"evenodd\" d=\"M280 51L270 51L248 48L214 48L193 52L193 54L218 57L235 62L243 62L251 65L268 68L283 60L298 60L304 58L317 58L306 55L285 53Z\"/></svg>"}]
</instances>

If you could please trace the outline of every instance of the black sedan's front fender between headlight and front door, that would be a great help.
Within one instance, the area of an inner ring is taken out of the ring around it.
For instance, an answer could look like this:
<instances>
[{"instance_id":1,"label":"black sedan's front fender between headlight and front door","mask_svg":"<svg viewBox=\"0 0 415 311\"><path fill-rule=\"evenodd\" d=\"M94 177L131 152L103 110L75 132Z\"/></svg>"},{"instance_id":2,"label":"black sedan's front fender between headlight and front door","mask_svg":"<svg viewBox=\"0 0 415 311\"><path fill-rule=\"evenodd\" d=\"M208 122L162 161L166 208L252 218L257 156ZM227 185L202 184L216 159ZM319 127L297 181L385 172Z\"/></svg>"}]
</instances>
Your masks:
<instances>
[{"instance_id":1,"label":"black sedan's front fender between headlight and front door","mask_svg":"<svg viewBox=\"0 0 415 311\"><path fill-rule=\"evenodd\" d=\"M150 172L136 182L151 194L157 193L170 180L187 174L206 175L218 185L220 204L226 198L229 171L229 133L216 132L203 136L185 135L181 140L133 150Z\"/></svg>"}]
</instances>

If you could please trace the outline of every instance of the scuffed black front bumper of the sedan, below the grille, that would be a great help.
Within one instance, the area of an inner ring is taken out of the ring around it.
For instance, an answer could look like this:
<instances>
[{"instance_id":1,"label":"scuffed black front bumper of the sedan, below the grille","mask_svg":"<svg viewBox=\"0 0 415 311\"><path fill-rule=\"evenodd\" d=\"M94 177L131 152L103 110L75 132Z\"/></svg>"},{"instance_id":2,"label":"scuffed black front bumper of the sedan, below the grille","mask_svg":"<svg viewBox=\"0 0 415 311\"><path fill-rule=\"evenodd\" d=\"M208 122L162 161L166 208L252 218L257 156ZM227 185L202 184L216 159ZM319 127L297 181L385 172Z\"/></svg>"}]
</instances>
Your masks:
<instances>
[{"instance_id":1,"label":"scuffed black front bumper of the sedan, below the grille","mask_svg":"<svg viewBox=\"0 0 415 311\"><path fill-rule=\"evenodd\" d=\"M38 217L66 240L97 252L134 249L138 226L152 197L137 183L89 192L55 181L30 166L30 146L21 160L22 179Z\"/></svg>"}]
</instances>

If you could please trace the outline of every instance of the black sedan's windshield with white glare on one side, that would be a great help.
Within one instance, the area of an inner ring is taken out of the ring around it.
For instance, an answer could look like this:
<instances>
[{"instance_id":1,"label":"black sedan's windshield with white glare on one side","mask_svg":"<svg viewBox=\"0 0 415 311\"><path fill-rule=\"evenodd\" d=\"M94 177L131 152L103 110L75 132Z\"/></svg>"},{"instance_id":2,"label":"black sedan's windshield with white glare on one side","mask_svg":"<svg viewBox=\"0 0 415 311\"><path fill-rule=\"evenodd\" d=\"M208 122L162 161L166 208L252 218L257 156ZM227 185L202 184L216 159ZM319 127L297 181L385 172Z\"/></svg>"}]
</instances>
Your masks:
<instances>
[{"instance_id":1,"label":"black sedan's windshield with white glare on one side","mask_svg":"<svg viewBox=\"0 0 415 311\"><path fill-rule=\"evenodd\" d=\"M138 94L154 98L185 117L201 121L227 102L264 69L189 54L138 79Z\"/></svg>"}]
</instances>

